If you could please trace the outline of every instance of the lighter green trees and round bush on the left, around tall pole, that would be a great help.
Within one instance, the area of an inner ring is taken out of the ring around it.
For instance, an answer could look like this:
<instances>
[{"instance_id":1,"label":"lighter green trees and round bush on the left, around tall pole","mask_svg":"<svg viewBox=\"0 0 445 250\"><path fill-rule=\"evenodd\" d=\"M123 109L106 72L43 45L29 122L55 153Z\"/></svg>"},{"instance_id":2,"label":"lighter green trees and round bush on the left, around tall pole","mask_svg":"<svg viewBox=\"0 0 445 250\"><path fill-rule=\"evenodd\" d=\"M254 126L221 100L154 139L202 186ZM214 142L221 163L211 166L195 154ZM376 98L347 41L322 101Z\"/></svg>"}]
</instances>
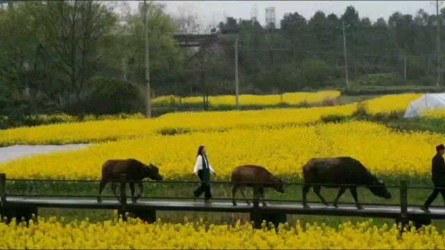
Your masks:
<instances>
[{"instance_id":1,"label":"lighter green trees and round bush on the left, around tall pole","mask_svg":"<svg viewBox=\"0 0 445 250\"><path fill-rule=\"evenodd\" d=\"M143 16L103 1L8 1L0 4L0 114L142 111ZM182 53L176 24L151 2L148 11L154 88L175 77Z\"/></svg>"}]
</instances>

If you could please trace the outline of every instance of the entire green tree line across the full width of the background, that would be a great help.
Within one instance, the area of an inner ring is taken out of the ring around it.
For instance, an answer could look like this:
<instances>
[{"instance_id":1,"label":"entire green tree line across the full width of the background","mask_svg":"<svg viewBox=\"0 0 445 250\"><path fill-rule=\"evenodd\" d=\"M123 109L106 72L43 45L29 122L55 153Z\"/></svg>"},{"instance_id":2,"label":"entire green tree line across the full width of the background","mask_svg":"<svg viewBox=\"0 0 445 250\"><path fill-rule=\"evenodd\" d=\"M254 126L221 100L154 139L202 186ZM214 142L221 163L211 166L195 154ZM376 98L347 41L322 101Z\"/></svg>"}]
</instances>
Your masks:
<instances>
[{"instance_id":1,"label":"entire green tree line across the full width of the background","mask_svg":"<svg viewBox=\"0 0 445 250\"><path fill-rule=\"evenodd\" d=\"M423 10L376 22L353 6L341 16L293 12L280 28L229 17L219 24L218 42L201 49L180 48L173 38L195 32L196 15L173 19L151 2L148 16L156 95L234 94L235 39L241 93L344 87L343 23L352 85L435 85L440 63L437 17ZM103 1L8 1L0 3L0 34L0 115L143 111L140 6L130 12ZM445 40L445 28L441 34Z\"/></svg>"}]
</instances>

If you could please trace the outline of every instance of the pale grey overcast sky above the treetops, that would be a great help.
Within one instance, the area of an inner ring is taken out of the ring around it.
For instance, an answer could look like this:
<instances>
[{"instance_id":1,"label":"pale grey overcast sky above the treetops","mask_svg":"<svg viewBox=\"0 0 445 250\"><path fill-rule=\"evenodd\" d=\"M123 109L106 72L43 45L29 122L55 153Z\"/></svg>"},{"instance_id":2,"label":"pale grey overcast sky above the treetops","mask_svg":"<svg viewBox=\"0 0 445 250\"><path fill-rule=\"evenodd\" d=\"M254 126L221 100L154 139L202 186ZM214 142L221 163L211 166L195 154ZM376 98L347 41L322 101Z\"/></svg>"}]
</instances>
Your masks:
<instances>
[{"instance_id":1,"label":"pale grey overcast sky above the treetops","mask_svg":"<svg viewBox=\"0 0 445 250\"><path fill-rule=\"evenodd\" d=\"M276 20L280 19L286 12L298 12L305 18L310 18L317 10L326 14L343 14L347 6L354 6L360 17L369 17L375 21L379 17L385 20L396 12L415 15L423 8L428 13L435 13L435 1L160 1L165 3L166 11L172 15L177 13L178 8L186 8L198 13L200 21L204 26L224 20L224 17L235 17L236 19L250 19L254 8L257 8L257 19L264 24L266 7L275 7ZM136 7L138 1L130 3Z\"/></svg>"}]
</instances>

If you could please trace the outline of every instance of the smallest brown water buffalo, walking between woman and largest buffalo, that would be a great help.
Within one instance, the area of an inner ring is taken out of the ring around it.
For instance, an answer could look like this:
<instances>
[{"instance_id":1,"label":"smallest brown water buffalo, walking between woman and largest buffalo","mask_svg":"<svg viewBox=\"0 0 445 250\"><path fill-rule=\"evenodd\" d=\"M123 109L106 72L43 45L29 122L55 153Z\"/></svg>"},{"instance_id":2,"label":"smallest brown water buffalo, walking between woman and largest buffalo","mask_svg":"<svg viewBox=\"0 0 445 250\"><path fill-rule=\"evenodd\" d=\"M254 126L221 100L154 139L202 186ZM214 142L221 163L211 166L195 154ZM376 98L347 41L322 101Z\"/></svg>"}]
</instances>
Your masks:
<instances>
[{"instance_id":1,"label":"smallest brown water buffalo, walking between woman and largest buffalo","mask_svg":"<svg viewBox=\"0 0 445 250\"><path fill-rule=\"evenodd\" d=\"M284 193L283 181L280 178L273 176L264 167L254 166L254 165L243 165L236 167L232 172L232 183L234 185L232 189L232 199L233 204L236 206L235 193L238 188L241 194L244 195L244 188L253 188L254 199L263 199L263 206L266 206L264 202L264 188L273 188L280 193ZM249 201L245 201L250 205Z\"/></svg>"}]
</instances>

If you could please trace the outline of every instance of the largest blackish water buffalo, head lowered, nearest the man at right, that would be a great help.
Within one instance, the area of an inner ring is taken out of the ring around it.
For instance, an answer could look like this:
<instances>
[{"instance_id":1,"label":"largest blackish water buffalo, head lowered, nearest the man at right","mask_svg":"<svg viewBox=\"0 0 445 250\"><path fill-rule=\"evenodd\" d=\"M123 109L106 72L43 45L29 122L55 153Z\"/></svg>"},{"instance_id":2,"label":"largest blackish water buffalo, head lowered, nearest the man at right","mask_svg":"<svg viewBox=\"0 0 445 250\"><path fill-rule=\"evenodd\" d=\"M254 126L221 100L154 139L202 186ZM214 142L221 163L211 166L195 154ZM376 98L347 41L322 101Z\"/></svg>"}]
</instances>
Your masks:
<instances>
[{"instance_id":1,"label":"largest blackish water buffalo, head lowered, nearest the man at right","mask_svg":"<svg viewBox=\"0 0 445 250\"><path fill-rule=\"evenodd\" d=\"M350 193L353 195L355 206L358 209L362 209L357 199L357 186L360 185L372 185L366 188L371 190L373 194L385 199L391 198L385 183L371 174L358 160L350 157L312 158L303 166L303 176L305 178L305 186L303 187L303 206L305 208L309 208L306 195L311 186L314 186L315 194L326 206L328 205L320 193L321 186L340 188L334 200L335 207L338 205L341 194L345 192L346 188L349 188Z\"/></svg>"}]
</instances>

